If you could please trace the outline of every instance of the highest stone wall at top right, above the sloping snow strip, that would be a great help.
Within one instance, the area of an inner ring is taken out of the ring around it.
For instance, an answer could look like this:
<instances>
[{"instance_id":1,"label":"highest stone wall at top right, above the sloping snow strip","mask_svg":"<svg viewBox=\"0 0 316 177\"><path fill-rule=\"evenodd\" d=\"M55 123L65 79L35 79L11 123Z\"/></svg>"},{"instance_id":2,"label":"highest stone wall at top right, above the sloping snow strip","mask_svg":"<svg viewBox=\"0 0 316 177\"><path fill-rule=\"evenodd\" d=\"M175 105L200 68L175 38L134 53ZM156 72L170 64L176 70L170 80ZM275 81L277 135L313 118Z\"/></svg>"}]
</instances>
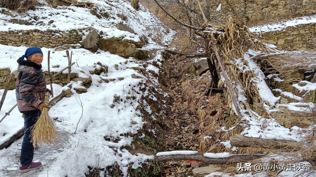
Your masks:
<instances>
[{"instance_id":1,"label":"highest stone wall at top right, above the sloping snow strip","mask_svg":"<svg viewBox=\"0 0 316 177\"><path fill-rule=\"evenodd\" d=\"M220 3L221 10L216 11ZM231 0L231 3L244 21L304 14L316 8L316 0ZM226 1L210 4L211 19L220 20L229 14L234 15Z\"/></svg>"}]
</instances>

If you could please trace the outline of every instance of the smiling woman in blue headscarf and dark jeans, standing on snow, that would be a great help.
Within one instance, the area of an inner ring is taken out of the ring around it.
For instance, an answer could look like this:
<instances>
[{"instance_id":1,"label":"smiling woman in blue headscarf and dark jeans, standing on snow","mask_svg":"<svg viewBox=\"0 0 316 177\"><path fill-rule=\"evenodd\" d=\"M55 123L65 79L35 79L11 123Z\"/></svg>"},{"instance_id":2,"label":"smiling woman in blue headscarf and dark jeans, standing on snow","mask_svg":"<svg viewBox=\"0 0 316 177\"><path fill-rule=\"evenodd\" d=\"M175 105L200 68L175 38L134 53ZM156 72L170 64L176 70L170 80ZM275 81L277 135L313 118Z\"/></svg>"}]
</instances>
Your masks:
<instances>
[{"instance_id":1,"label":"smiling woman in blue headscarf and dark jeans, standing on snow","mask_svg":"<svg viewBox=\"0 0 316 177\"><path fill-rule=\"evenodd\" d=\"M18 109L24 115L20 173L40 168L42 165L40 162L33 162L33 151L37 150L38 146L34 149L30 137L31 127L36 123L43 108L49 109L49 106L44 104L45 93L46 91L52 93L46 88L45 77L41 70L42 61L43 52L38 47L28 48L25 54L17 60L19 75L15 83L15 94Z\"/></svg>"}]
</instances>

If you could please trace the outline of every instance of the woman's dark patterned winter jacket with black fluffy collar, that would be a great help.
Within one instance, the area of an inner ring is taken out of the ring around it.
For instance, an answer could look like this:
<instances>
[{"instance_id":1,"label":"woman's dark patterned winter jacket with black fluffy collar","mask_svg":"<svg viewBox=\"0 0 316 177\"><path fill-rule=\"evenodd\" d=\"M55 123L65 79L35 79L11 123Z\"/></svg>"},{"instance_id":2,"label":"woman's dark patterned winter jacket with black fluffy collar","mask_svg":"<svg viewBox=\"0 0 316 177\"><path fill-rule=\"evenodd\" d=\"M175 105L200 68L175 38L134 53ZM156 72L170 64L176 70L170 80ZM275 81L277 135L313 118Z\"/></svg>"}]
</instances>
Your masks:
<instances>
[{"instance_id":1,"label":"woman's dark patterned winter jacket with black fluffy collar","mask_svg":"<svg viewBox=\"0 0 316 177\"><path fill-rule=\"evenodd\" d=\"M29 60L17 60L19 75L15 83L15 95L18 109L21 113L38 110L44 103L46 81L38 65Z\"/></svg>"}]
</instances>

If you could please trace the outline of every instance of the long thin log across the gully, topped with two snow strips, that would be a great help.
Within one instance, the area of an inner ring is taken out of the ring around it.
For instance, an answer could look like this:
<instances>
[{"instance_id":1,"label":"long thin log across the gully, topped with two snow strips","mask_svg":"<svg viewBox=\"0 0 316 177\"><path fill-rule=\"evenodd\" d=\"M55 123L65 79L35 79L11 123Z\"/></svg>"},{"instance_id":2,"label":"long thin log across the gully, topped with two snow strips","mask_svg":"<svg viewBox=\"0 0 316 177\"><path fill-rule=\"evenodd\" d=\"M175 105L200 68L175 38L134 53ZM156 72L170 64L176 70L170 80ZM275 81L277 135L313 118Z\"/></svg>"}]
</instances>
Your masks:
<instances>
[{"instance_id":1,"label":"long thin log across the gully, topped with two snow strips","mask_svg":"<svg viewBox=\"0 0 316 177\"><path fill-rule=\"evenodd\" d=\"M167 155L167 156L156 156L157 161L159 162L168 162L168 161L179 161L179 160L196 160L206 164L231 164L237 162L250 162L257 160L259 158L266 157L263 154L242 154L234 155L225 158L210 158L204 157L203 154L191 154L191 155Z\"/></svg>"}]
</instances>

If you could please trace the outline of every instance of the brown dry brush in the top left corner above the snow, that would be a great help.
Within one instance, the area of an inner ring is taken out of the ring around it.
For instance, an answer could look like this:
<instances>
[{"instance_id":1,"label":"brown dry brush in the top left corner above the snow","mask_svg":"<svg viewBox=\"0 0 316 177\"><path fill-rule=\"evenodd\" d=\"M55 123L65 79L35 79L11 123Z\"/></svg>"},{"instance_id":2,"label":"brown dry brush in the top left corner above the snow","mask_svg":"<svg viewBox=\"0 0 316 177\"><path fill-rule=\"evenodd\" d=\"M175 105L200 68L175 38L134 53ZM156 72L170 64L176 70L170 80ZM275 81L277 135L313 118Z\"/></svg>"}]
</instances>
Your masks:
<instances>
[{"instance_id":1,"label":"brown dry brush in the top left corner above the snow","mask_svg":"<svg viewBox=\"0 0 316 177\"><path fill-rule=\"evenodd\" d=\"M0 6L10 10L14 10L18 13L26 12L27 10L35 10L35 7L39 3L37 0L2 0L0 1Z\"/></svg>"}]
</instances>

